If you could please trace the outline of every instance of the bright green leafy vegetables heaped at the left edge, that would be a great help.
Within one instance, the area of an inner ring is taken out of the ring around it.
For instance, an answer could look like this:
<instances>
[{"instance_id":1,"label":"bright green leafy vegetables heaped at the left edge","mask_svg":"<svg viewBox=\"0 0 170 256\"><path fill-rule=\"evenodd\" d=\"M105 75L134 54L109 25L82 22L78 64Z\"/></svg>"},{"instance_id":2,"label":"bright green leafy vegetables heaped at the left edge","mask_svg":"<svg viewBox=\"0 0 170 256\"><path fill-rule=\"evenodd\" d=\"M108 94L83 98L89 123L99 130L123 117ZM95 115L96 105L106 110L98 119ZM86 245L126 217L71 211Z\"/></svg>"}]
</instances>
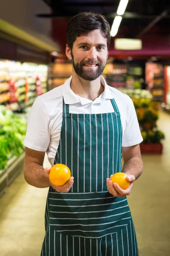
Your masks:
<instances>
[{"instance_id":1,"label":"bright green leafy vegetables heaped at the left edge","mask_svg":"<svg viewBox=\"0 0 170 256\"><path fill-rule=\"evenodd\" d=\"M24 151L26 119L0 105L0 176L8 160Z\"/></svg>"}]
</instances>

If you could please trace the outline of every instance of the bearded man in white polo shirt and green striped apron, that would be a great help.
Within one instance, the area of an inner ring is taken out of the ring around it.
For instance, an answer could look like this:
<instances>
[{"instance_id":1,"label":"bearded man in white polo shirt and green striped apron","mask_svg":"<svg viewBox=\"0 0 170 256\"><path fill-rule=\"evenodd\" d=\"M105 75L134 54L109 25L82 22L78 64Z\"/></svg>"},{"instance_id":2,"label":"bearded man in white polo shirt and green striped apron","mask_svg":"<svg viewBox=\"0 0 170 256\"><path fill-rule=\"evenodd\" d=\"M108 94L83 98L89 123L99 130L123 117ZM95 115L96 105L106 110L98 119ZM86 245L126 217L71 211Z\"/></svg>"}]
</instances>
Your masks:
<instances>
[{"instance_id":1,"label":"bearded man in white polo shirt and green striped apron","mask_svg":"<svg viewBox=\"0 0 170 256\"><path fill-rule=\"evenodd\" d=\"M66 45L72 76L39 96L31 109L24 175L32 186L49 187L42 256L138 255L126 195L142 174L142 136L131 99L101 76L109 44L105 17L72 17ZM42 167L45 151L51 165L71 169L65 185L49 181L50 169ZM109 178L121 171L130 181L126 190Z\"/></svg>"}]
</instances>

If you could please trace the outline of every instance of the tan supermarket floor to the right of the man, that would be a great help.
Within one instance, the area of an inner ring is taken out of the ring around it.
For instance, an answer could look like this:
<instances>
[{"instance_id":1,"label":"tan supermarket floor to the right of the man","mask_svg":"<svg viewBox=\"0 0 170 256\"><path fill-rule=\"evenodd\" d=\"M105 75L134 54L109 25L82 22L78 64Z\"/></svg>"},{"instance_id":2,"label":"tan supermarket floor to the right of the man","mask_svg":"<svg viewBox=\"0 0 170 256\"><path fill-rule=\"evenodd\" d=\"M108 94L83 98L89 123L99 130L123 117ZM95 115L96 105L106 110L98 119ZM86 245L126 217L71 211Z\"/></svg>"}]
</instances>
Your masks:
<instances>
[{"instance_id":1,"label":"tan supermarket floor to the right of the man","mask_svg":"<svg viewBox=\"0 0 170 256\"><path fill-rule=\"evenodd\" d=\"M161 113L158 126L166 136L163 154L143 155L144 172L128 198L139 256L170 255L170 114Z\"/></svg>"}]
</instances>

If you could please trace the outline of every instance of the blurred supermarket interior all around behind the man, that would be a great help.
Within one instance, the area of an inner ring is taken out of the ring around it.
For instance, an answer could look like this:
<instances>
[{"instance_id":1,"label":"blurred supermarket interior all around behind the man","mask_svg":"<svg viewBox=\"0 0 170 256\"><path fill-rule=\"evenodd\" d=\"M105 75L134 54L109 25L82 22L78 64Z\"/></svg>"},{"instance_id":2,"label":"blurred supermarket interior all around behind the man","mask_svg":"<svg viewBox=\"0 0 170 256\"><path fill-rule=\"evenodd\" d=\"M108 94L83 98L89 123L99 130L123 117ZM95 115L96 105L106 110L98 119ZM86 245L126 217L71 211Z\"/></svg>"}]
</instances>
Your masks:
<instances>
[{"instance_id":1,"label":"blurred supermarket interior all around behind the man","mask_svg":"<svg viewBox=\"0 0 170 256\"><path fill-rule=\"evenodd\" d=\"M169 0L0 1L0 256L40 255L48 189L24 180L23 139L36 97L71 76L66 26L84 11L110 23L102 75L132 98L144 139L144 173L128 197L139 255L169 256Z\"/></svg>"}]
</instances>

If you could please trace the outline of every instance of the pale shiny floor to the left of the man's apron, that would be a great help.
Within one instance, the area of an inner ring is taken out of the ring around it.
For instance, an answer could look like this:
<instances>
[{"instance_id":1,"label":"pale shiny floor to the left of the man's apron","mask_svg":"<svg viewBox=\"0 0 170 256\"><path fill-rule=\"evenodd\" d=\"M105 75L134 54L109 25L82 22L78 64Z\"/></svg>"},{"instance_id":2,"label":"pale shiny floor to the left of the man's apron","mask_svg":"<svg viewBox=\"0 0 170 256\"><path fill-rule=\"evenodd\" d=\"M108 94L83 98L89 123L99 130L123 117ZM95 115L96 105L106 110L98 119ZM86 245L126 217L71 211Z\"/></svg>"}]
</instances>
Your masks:
<instances>
[{"instance_id":1,"label":"pale shiny floor to the left of the man's apron","mask_svg":"<svg viewBox=\"0 0 170 256\"><path fill-rule=\"evenodd\" d=\"M44 167L50 167L45 155ZM48 188L29 186L23 173L0 198L0 256L39 256Z\"/></svg>"}]
</instances>

